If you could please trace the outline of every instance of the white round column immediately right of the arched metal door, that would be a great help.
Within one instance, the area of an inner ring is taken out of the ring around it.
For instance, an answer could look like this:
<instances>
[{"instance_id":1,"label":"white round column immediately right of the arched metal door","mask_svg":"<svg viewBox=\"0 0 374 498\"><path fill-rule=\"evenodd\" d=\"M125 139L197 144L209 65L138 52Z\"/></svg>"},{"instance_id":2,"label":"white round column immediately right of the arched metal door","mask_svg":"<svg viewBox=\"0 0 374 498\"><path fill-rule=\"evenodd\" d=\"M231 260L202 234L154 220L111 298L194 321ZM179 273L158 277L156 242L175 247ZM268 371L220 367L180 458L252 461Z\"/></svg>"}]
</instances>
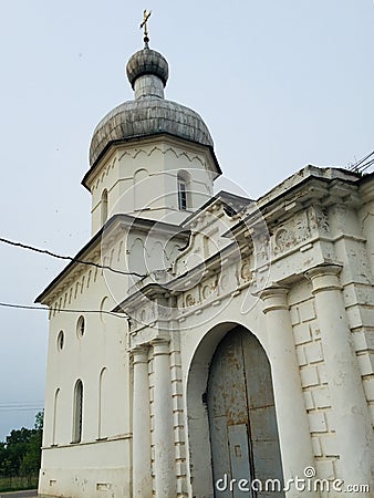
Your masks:
<instances>
[{"instance_id":1,"label":"white round column immediately right of the arched metal door","mask_svg":"<svg viewBox=\"0 0 374 498\"><path fill-rule=\"evenodd\" d=\"M269 338L278 432L282 455L284 484L303 478L307 467L314 467L308 414L301 388L288 304L288 289L270 287L261 292ZM288 498L318 497L318 492L298 491L293 485Z\"/></svg>"}]
</instances>

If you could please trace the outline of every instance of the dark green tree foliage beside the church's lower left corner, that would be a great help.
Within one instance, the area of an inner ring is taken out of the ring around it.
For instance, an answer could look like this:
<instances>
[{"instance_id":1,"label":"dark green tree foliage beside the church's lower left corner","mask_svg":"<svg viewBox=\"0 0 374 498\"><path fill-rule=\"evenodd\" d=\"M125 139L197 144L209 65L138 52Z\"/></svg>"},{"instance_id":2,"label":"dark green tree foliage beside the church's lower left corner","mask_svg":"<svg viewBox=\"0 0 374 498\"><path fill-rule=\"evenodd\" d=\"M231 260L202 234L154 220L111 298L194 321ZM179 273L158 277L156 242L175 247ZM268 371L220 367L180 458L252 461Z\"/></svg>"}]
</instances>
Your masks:
<instances>
[{"instance_id":1,"label":"dark green tree foliage beside the church's lower left corner","mask_svg":"<svg viewBox=\"0 0 374 498\"><path fill-rule=\"evenodd\" d=\"M43 412L35 417L35 428L11 430L6 443L0 442L0 477L38 475L41 461Z\"/></svg>"}]
</instances>

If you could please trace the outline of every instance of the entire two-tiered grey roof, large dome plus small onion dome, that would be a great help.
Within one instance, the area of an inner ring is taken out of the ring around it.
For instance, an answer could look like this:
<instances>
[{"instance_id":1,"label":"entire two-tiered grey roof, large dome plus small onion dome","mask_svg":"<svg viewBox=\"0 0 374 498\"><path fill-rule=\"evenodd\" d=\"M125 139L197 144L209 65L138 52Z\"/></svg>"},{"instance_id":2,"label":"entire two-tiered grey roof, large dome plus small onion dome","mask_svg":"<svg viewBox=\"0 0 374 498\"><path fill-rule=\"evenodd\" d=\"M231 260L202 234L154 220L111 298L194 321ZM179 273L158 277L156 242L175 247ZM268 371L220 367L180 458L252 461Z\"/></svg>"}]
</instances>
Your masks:
<instances>
[{"instance_id":1,"label":"entire two-tiered grey roof, large dome plus small onion dome","mask_svg":"<svg viewBox=\"0 0 374 498\"><path fill-rule=\"evenodd\" d=\"M164 98L168 64L160 53L148 48L136 52L127 63L127 76L135 100L118 105L98 123L90 147L91 166L112 143L162 133L212 147L199 114Z\"/></svg>"}]
</instances>

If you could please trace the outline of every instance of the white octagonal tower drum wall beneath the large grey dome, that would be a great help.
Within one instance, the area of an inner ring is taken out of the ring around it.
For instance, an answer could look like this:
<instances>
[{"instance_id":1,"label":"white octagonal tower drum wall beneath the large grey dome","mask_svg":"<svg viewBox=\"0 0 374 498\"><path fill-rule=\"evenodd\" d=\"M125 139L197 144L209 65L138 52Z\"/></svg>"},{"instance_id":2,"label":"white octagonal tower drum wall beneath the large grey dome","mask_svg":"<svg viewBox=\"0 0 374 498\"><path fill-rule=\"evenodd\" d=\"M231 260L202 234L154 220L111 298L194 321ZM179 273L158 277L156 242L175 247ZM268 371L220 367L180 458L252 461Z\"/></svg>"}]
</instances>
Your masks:
<instances>
[{"instance_id":1,"label":"white octagonal tower drum wall beneath the large grey dome","mask_svg":"<svg viewBox=\"0 0 374 498\"><path fill-rule=\"evenodd\" d=\"M110 216L126 212L165 222L179 224L188 212L178 208L177 175L190 176L188 211L196 210L212 195L217 174L206 148L170 137L158 137L112 147L103 158L93 179L92 234L102 227L102 193L108 193ZM144 172L144 173L142 173Z\"/></svg>"}]
</instances>

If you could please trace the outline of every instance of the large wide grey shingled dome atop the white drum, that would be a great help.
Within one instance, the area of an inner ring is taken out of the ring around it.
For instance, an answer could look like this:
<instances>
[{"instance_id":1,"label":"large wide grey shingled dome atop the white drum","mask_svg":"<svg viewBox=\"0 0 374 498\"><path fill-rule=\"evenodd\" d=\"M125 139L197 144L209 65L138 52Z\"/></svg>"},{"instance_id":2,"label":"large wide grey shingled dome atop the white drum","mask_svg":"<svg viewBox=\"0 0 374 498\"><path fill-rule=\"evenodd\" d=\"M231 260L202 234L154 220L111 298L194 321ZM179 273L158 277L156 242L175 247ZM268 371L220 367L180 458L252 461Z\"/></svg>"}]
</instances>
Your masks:
<instances>
[{"instance_id":1,"label":"large wide grey shingled dome atop the white drum","mask_svg":"<svg viewBox=\"0 0 374 498\"><path fill-rule=\"evenodd\" d=\"M164 98L139 98L118 105L98 123L91 142L90 164L93 166L112 142L162 133L214 145L207 125L195 111Z\"/></svg>"}]
</instances>

